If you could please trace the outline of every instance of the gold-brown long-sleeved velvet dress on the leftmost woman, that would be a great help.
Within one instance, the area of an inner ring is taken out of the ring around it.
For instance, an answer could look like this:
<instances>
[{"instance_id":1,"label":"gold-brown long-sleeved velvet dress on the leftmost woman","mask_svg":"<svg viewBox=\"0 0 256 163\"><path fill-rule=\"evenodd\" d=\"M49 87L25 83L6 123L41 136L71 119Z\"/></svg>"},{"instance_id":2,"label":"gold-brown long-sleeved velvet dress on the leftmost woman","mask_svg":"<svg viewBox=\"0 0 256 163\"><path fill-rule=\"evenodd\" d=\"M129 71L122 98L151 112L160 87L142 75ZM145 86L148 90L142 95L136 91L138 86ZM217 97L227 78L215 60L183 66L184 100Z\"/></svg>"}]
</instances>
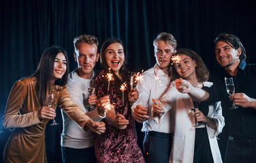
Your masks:
<instances>
[{"instance_id":1,"label":"gold-brown long-sleeved velvet dress on the leftmost woman","mask_svg":"<svg viewBox=\"0 0 256 163\"><path fill-rule=\"evenodd\" d=\"M37 111L41 109L35 93L36 77L18 80L10 92L3 116L3 126L11 128L12 134L5 145L3 162L47 162L44 130L48 119L40 121ZM71 101L67 88L54 86L57 106L63 109L81 127L90 118Z\"/></svg>"}]
</instances>

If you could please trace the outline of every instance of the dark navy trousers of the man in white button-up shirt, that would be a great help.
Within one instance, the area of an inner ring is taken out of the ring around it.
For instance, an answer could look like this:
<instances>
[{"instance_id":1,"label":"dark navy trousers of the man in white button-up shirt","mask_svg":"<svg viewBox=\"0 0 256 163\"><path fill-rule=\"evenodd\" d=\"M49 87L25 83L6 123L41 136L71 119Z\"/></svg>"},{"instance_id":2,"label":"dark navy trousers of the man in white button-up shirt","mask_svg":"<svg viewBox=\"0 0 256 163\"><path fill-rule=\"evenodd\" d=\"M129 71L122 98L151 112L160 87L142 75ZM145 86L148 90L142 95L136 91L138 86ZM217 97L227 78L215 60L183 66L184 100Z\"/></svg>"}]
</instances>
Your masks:
<instances>
[{"instance_id":1,"label":"dark navy trousers of the man in white button-up shirt","mask_svg":"<svg viewBox=\"0 0 256 163\"><path fill-rule=\"evenodd\" d=\"M172 134L161 132L146 132L143 142L145 162L168 163L172 149L172 136Z\"/></svg>"}]
</instances>

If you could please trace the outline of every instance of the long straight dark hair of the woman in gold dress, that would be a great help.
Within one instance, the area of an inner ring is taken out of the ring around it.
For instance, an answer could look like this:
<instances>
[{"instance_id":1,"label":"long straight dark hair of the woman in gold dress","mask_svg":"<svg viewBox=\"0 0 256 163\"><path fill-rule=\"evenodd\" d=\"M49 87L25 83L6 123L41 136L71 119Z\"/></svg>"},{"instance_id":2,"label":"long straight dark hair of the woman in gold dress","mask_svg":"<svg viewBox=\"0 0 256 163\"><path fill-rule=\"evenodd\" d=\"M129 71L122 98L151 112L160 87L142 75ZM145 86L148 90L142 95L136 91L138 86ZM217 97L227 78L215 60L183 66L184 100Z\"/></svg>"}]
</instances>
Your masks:
<instances>
[{"instance_id":1,"label":"long straight dark hair of the woman in gold dress","mask_svg":"<svg viewBox=\"0 0 256 163\"><path fill-rule=\"evenodd\" d=\"M41 106L46 105L46 94L52 89L51 81L54 80L54 60L59 53L63 53L67 60L67 52L59 46L51 46L44 50L40 62L37 66L34 77L37 78L35 84L35 92ZM65 86L67 84L67 77L69 74L68 60L67 70L61 79L55 80L54 84L58 86Z\"/></svg>"}]
</instances>

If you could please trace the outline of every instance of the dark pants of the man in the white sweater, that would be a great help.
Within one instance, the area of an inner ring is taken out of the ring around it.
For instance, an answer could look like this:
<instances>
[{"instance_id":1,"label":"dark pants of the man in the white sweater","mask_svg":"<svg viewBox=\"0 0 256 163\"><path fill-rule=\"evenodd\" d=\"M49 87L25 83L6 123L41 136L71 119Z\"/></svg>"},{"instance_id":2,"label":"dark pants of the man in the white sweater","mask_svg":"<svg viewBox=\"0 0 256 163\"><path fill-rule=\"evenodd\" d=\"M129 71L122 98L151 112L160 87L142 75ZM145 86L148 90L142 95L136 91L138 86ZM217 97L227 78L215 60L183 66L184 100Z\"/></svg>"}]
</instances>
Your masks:
<instances>
[{"instance_id":1,"label":"dark pants of the man in the white sweater","mask_svg":"<svg viewBox=\"0 0 256 163\"><path fill-rule=\"evenodd\" d=\"M74 149L61 147L63 163L95 163L94 147Z\"/></svg>"}]
</instances>

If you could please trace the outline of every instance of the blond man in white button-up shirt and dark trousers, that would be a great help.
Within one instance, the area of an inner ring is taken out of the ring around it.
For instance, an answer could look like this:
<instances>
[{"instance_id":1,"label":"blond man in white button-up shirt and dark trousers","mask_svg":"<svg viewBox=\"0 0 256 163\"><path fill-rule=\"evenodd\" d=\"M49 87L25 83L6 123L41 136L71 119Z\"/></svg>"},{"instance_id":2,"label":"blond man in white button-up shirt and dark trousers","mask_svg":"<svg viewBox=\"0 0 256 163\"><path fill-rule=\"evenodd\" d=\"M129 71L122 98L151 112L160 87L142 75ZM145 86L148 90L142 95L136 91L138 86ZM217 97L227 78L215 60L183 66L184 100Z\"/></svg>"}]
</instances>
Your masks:
<instances>
[{"instance_id":1,"label":"blond man in white button-up shirt and dark trousers","mask_svg":"<svg viewBox=\"0 0 256 163\"><path fill-rule=\"evenodd\" d=\"M166 113L163 123L156 124L153 120L152 99L161 98L170 86L171 57L176 52L177 41L170 33L160 33L153 45L157 63L143 73L144 79L137 86L140 98L131 109L135 120L143 122L145 161L169 162L174 132L172 109Z\"/></svg>"}]
</instances>

